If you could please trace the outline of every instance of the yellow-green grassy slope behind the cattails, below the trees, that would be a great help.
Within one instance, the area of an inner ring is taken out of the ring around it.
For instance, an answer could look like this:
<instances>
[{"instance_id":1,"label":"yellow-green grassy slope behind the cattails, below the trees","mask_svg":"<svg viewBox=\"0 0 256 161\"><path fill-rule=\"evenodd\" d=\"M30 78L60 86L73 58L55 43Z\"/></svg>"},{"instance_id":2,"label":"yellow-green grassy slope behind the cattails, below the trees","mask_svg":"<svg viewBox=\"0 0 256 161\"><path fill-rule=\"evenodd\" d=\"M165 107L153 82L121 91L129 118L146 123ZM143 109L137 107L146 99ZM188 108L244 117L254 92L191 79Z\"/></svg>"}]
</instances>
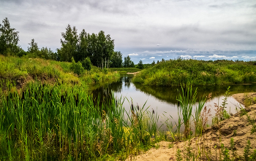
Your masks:
<instances>
[{"instance_id":1,"label":"yellow-green grassy slope behind the cattails, below the trees","mask_svg":"<svg viewBox=\"0 0 256 161\"><path fill-rule=\"evenodd\" d=\"M72 68L72 63L68 62L0 55L1 82L7 80L15 82L18 86L35 79L49 83L94 85L117 77L118 74L95 66L92 66L91 71L86 71L83 68Z\"/></svg>"}]
</instances>

